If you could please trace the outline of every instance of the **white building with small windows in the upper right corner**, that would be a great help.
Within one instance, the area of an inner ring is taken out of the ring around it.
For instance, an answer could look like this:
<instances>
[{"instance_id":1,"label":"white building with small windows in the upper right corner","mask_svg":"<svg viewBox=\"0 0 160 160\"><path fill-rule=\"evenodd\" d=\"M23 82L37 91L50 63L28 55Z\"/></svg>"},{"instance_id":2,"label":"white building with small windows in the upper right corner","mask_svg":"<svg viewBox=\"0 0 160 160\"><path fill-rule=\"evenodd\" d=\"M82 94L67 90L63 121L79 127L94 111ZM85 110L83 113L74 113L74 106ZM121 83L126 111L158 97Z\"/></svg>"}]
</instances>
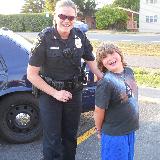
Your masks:
<instances>
[{"instance_id":1,"label":"white building with small windows in the upper right corner","mask_svg":"<svg viewBox=\"0 0 160 160\"><path fill-rule=\"evenodd\" d=\"M160 0L140 0L140 32L160 32Z\"/></svg>"}]
</instances>

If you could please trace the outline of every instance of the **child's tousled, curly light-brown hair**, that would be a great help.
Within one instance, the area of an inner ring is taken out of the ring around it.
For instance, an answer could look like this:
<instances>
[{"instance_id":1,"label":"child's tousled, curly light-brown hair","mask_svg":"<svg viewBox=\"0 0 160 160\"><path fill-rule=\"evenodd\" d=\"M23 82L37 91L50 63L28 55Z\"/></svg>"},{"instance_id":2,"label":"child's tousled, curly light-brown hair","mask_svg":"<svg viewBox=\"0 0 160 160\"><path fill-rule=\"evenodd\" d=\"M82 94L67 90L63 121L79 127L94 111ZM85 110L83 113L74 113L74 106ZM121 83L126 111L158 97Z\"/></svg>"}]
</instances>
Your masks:
<instances>
[{"instance_id":1,"label":"child's tousled, curly light-brown hair","mask_svg":"<svg viewBox=\"0 0 160 160\"><path fill-rule=\"evenodd\" d=\"M96 52L97 66L101 72L108 71L108 69L103 65L102 60L107 56L107 54L113 54L114 51L120 55L123 67L127 66L127 63L124 61L124 58L120 49L113 44L103 42L100 44Z\"/></svg>"}]
</instances>

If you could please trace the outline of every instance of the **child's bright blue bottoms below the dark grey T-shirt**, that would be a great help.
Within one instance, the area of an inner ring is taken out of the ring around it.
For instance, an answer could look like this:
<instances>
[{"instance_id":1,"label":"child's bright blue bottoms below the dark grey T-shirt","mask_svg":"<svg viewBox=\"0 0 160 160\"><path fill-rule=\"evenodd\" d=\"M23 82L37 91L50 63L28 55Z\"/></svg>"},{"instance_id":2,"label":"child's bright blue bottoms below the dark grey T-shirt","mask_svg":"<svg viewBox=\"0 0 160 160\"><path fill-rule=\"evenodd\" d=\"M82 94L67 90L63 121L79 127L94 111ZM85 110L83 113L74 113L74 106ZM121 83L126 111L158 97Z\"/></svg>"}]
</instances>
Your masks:
<instances>
[{"instance_id":1,"label":"child's bright blue bottoms below the dark grey T-shirt","mask_svg":"<svg viewBox=\"0 0 160 160\"><path fill-rule=\"evenodd\" d=\"M135 132L124 136L109 136L102 133L102 160L133 160Z\"/></svg>"}]
</instances>

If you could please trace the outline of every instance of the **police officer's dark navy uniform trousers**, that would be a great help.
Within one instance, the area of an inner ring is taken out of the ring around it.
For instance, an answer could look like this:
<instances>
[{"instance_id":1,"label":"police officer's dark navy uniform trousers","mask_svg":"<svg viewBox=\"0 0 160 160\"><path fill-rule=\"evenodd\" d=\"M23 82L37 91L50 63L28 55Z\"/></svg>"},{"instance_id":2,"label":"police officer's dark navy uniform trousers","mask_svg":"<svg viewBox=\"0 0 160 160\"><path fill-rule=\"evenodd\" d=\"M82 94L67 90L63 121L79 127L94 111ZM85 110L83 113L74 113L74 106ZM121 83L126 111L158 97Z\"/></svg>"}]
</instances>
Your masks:
<instances>
[{"instance_id":1,"label":"police officer's dark navy uniform trousers","mask_svg":"<svg viewBox=\"0 0 160 160\"><path fill-rule=\"evenodd\" d=\"M39 97L44 160L75 160L81 99L81 92L67 103L47 94Z\"/></svg>"}]
</instances>

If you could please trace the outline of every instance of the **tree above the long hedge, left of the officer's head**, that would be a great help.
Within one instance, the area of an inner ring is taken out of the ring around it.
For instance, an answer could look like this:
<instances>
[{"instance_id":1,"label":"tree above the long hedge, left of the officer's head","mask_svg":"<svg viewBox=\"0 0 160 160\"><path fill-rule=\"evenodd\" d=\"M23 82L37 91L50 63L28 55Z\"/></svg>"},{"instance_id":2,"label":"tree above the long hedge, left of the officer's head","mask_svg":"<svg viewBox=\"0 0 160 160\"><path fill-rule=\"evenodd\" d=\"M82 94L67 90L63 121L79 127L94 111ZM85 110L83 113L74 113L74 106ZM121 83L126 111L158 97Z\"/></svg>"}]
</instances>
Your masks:
<instances>
[{"instance_id":1,"label":"tree above the long hedge, left of the officer's head","mask_svg":"<svg viewBox=\"0 0 160 160\"><path fill-rule=\"evenodd\" d=\"M42 13L45 0L25 0L21 13Z\"/></svg>"}]
</instances>

